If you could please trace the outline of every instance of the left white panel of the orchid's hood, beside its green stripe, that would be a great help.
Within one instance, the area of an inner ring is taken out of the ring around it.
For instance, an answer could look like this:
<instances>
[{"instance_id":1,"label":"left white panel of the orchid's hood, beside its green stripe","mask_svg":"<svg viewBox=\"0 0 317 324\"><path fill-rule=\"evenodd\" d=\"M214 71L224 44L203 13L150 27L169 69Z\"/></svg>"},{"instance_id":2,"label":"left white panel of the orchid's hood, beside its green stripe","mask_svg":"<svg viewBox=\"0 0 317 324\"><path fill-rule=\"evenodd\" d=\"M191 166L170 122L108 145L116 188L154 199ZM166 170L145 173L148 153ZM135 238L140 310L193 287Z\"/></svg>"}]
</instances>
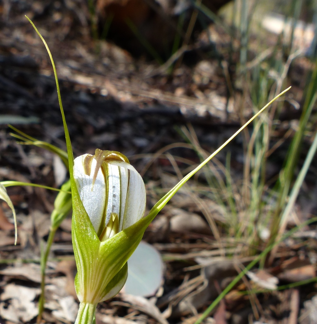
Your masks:
<instances>
[{"instance_id":1,"label":"left white panel of the orchid's hood, beside its green stripe","mask_svg":"<svg viewBox=\"0 0 317 324\"><path fill-rule=\"evenodd\" d=\"M88 154L78 156L74 160L74 178L80 199L83 202L83 205L92 225L94 226L96 233L98 233L106 204L106 186L104 175L101 169L99 169L95 184L92 187L92 179L95 172L96 160L92 160L91 173L90 175L86 175L83 162L87 155Z\"/></svg>"}]
</instances>

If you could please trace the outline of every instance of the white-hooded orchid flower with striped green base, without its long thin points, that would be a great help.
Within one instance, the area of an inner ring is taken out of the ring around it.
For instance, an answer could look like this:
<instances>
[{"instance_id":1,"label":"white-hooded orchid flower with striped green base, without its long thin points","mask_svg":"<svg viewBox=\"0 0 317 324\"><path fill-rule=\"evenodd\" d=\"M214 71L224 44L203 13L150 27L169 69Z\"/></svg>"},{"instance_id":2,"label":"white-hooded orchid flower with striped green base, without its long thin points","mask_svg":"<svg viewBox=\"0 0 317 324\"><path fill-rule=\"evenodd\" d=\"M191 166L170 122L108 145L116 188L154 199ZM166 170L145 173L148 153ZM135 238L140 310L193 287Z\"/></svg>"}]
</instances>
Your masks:
<instances>
[{"instance_id":1,"label":"white-hooded orchid flower with striped green base, without its long thin points","mask_svg":"<svg viewBox=\"0 0 317 324\"><path fill-rule=\"evenodd\" d=\"M146 190L124 155L97 149L74 160L72 199L75 287L81 302L76 323L82 323L81 318L92 316L93 305L116 295L125 283L126 262L146 228Z\"/></svg>"}]
</instances>

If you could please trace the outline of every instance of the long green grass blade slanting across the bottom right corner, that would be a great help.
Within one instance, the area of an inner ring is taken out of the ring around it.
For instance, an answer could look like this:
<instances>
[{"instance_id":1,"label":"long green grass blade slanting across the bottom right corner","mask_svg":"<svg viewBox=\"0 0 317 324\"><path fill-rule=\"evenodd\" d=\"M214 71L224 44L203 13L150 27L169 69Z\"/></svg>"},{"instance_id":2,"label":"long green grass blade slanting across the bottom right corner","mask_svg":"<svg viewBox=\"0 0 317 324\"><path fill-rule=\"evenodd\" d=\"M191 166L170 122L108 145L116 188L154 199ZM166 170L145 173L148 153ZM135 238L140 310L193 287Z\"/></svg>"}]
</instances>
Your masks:
<instances>
[{"instance_id":1,"label":"long green grass blade slanting across the bottom right corner","mask_svg":"<svg viewBox=\"0 0 317 324\"><path fill-rule=\"evenodd\" d=\"M274 242L273 244L269 245L264 251L258 255L252 262L250 262L232 281L231 283L219 294L219 296L211 303L211 305L204 311L204 313L196 320L194 324L200 324L209 314L211 311L219 304L221 299L223 299L229 291L240 281L240 279L249 271L251 270L262 258L265 258L265 256L273 249L273 247L276 244L281 243L286 238L293 235L296 231L298 231L300 228L307 226L313 222L317 221L317 217L314 217L303 224L293 228L292 230L288 231L283 237L281 237L280 240Z\"/></svg>"}]
</instances>

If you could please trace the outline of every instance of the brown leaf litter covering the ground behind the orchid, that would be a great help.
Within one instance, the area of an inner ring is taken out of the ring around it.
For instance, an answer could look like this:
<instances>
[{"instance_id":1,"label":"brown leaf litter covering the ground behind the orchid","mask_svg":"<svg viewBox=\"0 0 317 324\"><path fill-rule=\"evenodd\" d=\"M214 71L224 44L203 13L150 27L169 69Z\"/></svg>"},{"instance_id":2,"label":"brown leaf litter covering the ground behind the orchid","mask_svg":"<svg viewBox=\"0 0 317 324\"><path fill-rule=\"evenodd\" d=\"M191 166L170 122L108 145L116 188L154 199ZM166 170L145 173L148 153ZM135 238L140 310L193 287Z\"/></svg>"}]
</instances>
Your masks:
<instances>
[{"instance_id":1,"label":"brown leaf litter covering the ground behind the orchid","mask_svg":"<svg viewBox=\"0 0 317 324\"><path fill-rule=\"evenodd\" d=\"M9 4L10 8L1 7L6 14L1 16L0 33L0 176L55 187L66 177L59 159L40 148L17 144L6 126L12 123L30 136L65 149L47 53L24 19L24 14L32 11L57 64L74 154L92 153L98 147L121 151L130 157L131 163L144 174L150 208L178 181L178 168L183 171L199 162L179 135L182 125L191 123L209 152L238 128L234 101L227 101L226 75L218 59L206 59L199 47L195 64L182 64L169 75L164 66L144 58L134 59L114 44L96 43L89 36L88 26L78 21L80 10L70 9L70 2L68 6L52 6L49 2L17 1ZM210 27L210 32L226 59L224 49L230 38L215 26ZM203 43L205 37L202 32L199 41ZM293 98L300 101L299 79L307 72L307 61L300 59L296 64L290 79ZM245 107L245 116L251 114L251 108ZM287 118L281 125L276 139L292 128ZM169 154L164 151L152 161L155 153L166 145L172 145ZM282 145L278 150L269 176L279 170L286 149ZM233 172L241 174L241 141L237 139L227 150L232 153ZM225 163L226 152L217 157ZM307 181L306 191L314 179ZM197 193L200 185L204 181L191 181L145 234L144 239L164 260L164 278L156 295L147 299L119 294L99 305L98 323L194 323L252 261L243 242L237 244L222 230L226 220L216 212L213 217L220 240L213 236L202 204L214 211L215 203ZM18 245L14 246L13 225L6 218L10 219L10 210L1 203L0 322L35 323L40 294L40 243L47 239L56 194L27 187L11 187L8 193L17 210L19 237ZM297 206L299 215L316 210L314 203L305 201L305 195L302 200L304 203ZM76 265L70 224L71 219L67 218L57 231L48 262L45 323L71 323L76 318ZM316 288L310 280L316 277L316 239L314 226L289 238L280 246L273 266L243 277L205 322L296 323L299 317L300 323L313 323ZM306 285L290 285L305 280ZM289 286L276 290L283 285ZM242 293L252 289L263 291Z\"/></svg>"}]
</instances>

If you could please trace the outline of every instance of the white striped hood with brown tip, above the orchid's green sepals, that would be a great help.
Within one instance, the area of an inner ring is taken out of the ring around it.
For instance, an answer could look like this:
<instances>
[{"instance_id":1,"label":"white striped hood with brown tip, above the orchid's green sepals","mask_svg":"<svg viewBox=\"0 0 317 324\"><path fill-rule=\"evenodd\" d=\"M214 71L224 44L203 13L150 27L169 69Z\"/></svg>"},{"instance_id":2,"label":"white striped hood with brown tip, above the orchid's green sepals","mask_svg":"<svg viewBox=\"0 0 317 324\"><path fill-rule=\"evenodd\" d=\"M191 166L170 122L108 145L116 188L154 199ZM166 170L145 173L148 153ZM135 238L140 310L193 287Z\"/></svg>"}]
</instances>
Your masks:
<instances>
[{"instance_id":1,"label":"white striped hood with brown tip, above the orchid's green sepals","mask_svg":"<svg viewBox=\"0 0 317 324\"><path fill-rule=\"evenodd\" d=\"M100 241L143 216L145 185L123 154L97 149L94 156L76 157L73 170L80 199Z\"/></svg>"}]
</instances>

